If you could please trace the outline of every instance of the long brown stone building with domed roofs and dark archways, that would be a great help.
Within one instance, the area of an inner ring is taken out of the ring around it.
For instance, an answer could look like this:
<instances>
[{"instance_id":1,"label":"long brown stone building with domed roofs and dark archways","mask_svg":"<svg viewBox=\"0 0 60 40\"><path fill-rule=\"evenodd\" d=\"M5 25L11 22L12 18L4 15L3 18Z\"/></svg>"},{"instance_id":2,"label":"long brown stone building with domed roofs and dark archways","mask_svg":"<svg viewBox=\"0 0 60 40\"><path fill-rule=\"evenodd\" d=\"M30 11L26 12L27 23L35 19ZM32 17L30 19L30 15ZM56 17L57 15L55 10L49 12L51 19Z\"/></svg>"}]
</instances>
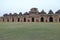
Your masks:
<instances>
[{"instance_id":1,"label":"long brown stone building with domed roofs and dark archways","mask_svg":"<svg viewBox=\"0 0 60 40\"><path fill-rule=\"evenodd\" d=\"M22 12L19 14L6 13L0 17L0 22L60 22L60 10L55 13L50 10L47 14L44 10L39 12L37 8L31 8L24 14Z\"/></svg>"}]
</instances>

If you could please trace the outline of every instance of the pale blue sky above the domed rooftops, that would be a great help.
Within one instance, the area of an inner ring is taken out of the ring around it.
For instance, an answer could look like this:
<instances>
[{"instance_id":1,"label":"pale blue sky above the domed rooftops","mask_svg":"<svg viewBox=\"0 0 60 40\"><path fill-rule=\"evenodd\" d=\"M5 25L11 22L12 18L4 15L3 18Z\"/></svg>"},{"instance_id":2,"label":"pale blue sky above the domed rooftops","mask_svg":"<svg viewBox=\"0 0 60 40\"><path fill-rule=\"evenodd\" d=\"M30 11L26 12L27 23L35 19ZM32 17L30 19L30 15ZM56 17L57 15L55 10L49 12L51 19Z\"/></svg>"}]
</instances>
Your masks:
<instances>
[{"instance_id":1,"label":"pale blue sky above the domed rooftops","mask_svg":"<svg viewBox=\"0 0 60 40\"><path fill-rule=\"evenodd\" d=\"M39 12L60 9L60 0L0 0L0 16L5 13L29 12L31 8L38 8Z\"/></svg>"}]
</instances>

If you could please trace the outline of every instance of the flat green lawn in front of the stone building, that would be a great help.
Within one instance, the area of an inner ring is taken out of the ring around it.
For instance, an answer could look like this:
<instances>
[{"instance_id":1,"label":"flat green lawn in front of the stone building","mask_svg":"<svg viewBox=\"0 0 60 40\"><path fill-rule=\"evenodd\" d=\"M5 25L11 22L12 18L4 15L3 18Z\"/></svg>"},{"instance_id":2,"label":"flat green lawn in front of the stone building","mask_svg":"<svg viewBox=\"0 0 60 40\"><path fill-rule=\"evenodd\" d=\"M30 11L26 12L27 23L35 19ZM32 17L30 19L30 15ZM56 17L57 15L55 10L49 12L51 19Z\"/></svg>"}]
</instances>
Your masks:
<instances>
[{"instance_id":1,"label":"flat green lawn in front of the stone building","mask_svg":"<svg viewBox=\"0 0 60 40\"><path fill-rule=\"evenodd\" d=\"M60 23L0 23L0 40L60 40Z\"/></svg>"}]
</instances>

